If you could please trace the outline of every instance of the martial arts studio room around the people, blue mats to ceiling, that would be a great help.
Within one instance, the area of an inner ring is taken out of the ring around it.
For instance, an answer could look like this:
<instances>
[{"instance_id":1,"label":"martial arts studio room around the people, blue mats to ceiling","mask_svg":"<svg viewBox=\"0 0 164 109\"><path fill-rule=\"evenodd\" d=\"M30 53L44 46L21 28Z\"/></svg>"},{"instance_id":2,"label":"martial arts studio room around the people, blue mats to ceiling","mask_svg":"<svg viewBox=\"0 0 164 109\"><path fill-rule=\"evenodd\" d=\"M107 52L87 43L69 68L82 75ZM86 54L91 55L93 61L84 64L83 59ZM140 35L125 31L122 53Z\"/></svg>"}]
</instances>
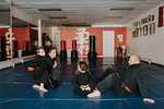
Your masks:
<instances>
[{"instance_id":1,"label":"martial arts studio room around the people, blue mats to ceiling","mask_svg":"<svg viewBox=\"0 0 164 109\"><path fill-rule=\"evenodd\" d=\"M0 0L0 109L164 109L164 0ZM57 49L48 92L33 88L28 65L36 48ZM121 73L131 55L147 66L149 97L108 90L87 98L73 93L78 62L99 76Z\"/></svg>"}]
</instances>

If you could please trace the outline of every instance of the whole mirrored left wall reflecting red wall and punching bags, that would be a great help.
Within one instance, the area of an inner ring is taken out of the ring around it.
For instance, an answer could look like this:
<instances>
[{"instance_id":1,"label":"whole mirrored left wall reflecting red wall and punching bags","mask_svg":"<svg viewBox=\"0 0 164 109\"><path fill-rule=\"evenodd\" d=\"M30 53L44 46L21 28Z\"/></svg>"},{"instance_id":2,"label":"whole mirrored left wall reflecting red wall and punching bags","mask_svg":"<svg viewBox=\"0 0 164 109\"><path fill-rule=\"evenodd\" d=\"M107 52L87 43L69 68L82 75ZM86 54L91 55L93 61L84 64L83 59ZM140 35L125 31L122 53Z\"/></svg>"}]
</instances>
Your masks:
<instances>
[{"instance_id":1,"label":"whole mirrored left wall reflecting red wall and punching bags","mask_svg":"<svg viewBox=\"0 0 164 109\"><path fill-rule=\"evenodd\" d=\"M36 53L37 26L13 15L11 3L0 0L0 61Z\"/></svg>"}]
</instances>

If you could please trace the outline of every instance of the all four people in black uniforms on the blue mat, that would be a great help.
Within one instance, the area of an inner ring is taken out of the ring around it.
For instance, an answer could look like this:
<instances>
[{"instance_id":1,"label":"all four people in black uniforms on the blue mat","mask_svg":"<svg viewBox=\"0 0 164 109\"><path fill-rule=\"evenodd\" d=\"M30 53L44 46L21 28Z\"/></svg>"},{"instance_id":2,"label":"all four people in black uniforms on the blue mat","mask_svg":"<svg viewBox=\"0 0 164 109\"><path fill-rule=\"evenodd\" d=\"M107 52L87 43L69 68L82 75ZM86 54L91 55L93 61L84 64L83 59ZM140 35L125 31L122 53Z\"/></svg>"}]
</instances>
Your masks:
<instances>
[{"instance_id":1,"label":"all four people in black uniforms on the blue mat","mask_svg":"<svg viewBox=\"0 0 164 109\"><path fill-rule=\"evenodd\" d=\"M46 57L44 48L37 48L37 55L28 68L35 83L33 87L42 92L48 92L46 82L51 76L51 70L57 66L55 58L55 48L50 48ZM89 72L86 62L78 62L78 71L72 78L73 93L79 96L97 98L107 90L113 90L116 95L124 96L139 89L143 101L154 104L154 100L149 98L143 77L144 66L140 64L140 57L131 56L128 63L129 65L124 69L121 74L108 68L97 77L95 74ZM57 86L58 83L56 81L54 87Z\"/></svg>"}]
</instances>

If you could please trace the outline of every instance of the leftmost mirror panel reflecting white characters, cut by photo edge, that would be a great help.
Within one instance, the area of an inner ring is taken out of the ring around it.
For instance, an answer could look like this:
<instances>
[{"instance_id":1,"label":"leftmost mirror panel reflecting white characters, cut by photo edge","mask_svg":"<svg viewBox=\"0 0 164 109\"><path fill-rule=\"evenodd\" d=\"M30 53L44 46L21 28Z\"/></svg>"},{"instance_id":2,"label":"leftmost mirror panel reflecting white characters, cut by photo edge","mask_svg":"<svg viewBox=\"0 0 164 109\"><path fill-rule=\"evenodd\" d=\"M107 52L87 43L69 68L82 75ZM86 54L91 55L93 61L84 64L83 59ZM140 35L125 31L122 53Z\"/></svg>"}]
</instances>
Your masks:
<instances>
[{"instance_id":1,"label":"leftmost mirror panel reflecting white characters, cut by photo edge","mask_svg":"<svg viewBox=\"0 0 164 109\"><path fill-rule=\"evenodd\" d=\"M0 61L11 59L10 3L0 0Z\"/></svg>"}]
</instances>

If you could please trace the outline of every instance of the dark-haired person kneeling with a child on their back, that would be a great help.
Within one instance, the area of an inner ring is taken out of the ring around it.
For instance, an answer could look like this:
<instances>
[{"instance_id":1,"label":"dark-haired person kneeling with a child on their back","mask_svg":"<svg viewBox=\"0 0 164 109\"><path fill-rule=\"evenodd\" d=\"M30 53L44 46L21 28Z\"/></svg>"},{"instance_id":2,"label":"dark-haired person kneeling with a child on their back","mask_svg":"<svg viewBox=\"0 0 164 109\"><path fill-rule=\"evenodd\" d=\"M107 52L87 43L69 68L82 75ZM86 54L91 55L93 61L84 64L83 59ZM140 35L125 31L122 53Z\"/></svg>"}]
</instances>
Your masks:
<instances>
[{"instance_id":1,"label":"dark-haired person kneeling with a child on their back","mask_svg":"<svg viewBox=\"0 0 164 109\"><path fill-rule=\"evenodd\" d=\"M44 83L44 84L40 84L40 87L39 87L39 90L42 92L48 92L46 89L46 83L47 83L47 80L51 77L51 70L57 66L57 62L55 61L56 53L57 53L56 48L50 47L48 49L47 57L45 57L45 60L43 61L43 63L40 64L38 69L38 72L42 75L40 83Z\"/></svg>"}]
</instances>

